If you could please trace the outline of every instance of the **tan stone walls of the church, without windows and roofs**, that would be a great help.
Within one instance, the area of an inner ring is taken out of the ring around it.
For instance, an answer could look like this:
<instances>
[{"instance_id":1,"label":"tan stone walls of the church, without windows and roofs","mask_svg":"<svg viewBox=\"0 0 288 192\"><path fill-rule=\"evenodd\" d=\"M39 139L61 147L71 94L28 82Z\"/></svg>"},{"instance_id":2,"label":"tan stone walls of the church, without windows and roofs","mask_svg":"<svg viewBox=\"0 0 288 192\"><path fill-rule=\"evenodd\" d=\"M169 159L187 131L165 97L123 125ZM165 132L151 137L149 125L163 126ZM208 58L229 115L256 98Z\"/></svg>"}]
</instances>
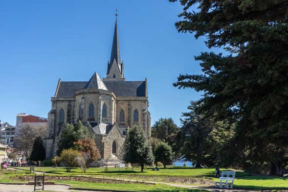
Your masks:
<instances>
[{"instance_id":1,"label":"tan stone walls of the church, without windows and roofs","mask_svg":"<svg viewBox=\"0 0 288 192\"><path fill-rule=\"evenodd\" d=\"M47 139L46 139L46 157L54 157L57 146L57 140L61 129L66 122L75 123L79 119L79 107L83 104L82 122L89 120L89 105L94 105L95 122L104 122L114 124L117 122L119 127L128 128L138 124L146 131L148 138L151 137L151 118L148 111L148 97L115 97L110 91L104 90L79 90L75 97L59 98L52 97L52 109L48 114ZM107 106L107 117L102 118L103 104ZM100 108L99 108L100 107ZM60 110L65 112L65 123L61 124ZM124 111L124 121L120 122L120 111ZM138 121L134 121L134 110L138 110ZM100 121L99 121L100 120ZM117 126L117 125L116 125ZM96 144L102 158L111 158L112 142L117 144L117 156L122 157L123 144L125 136L114 126L109 135L96 136ZM102 139L101 139L102 138Z\"/></svg>"}]
</instances>

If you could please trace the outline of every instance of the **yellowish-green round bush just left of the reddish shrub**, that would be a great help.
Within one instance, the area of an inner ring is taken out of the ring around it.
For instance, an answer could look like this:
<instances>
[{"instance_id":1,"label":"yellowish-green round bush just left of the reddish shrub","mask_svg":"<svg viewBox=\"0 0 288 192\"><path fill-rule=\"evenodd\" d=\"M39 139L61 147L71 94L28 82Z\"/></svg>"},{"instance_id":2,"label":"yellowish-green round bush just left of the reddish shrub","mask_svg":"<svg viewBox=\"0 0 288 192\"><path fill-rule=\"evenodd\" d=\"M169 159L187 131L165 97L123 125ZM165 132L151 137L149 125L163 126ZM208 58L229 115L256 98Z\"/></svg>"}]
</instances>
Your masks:
<instances>
[{"instance_id":1,"label":"yellowish-green round bush just left of the reddish shrub","mask_svg":"<svg viewBox=\"0 0 288 192\"><path fill-rule=\"evenodd\" d=\"M83 156L79 151L70 148L63 149L60 158L61 163L66 168L66 171L70 172L73 167L79 166L79 158L83 158Z\"/></svg>"}]
</instances>

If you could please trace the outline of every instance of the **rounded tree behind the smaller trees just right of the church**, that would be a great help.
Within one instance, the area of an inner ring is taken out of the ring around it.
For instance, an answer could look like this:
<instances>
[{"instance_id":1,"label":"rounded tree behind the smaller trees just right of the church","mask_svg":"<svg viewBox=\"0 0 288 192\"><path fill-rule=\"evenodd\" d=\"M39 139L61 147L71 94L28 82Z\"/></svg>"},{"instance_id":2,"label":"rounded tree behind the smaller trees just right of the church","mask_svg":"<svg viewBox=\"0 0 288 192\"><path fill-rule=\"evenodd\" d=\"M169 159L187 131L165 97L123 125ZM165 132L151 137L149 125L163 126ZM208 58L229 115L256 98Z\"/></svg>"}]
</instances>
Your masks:
<instances>
[{"instance_id":1,"label":"rounded tree behind the smaller trees just right of the church","mask_svg":"<svg viewBox=\"0 0 288 192\"><path fill-rule=\"evenodd\" d=\"M152 137L155 137L163 142L167 142L170 146L174 144L174 138L178 132L178 127L172 118L160 118L155 121L152 126Z\"/></svg>"}]
</instances>

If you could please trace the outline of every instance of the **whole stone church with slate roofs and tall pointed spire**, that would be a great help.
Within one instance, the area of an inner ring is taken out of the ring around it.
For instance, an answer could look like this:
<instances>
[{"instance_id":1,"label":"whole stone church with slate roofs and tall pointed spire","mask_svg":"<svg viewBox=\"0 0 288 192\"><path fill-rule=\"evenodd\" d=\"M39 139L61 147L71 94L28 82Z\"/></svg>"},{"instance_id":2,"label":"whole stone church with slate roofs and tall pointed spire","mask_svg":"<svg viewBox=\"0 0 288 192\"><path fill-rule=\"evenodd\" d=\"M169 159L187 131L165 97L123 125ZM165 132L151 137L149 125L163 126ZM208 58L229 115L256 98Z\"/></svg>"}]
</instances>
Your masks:
<instances>
[{"instance_id":1,"label":"whole stone church with slate roofs and tall pointed spire","mask_svg":"<svg viewBox=\"0 0 288 192\"><path fill-rule=\"evenodd\" d=\"M126 133L134 124L141 125L151 137L147 79L127 81L124 77L117 19L106 78L101 79L97 72L91 74L88 81L59 79L48 113L46 158L55 156L59 135L67 122L81 120L88 127L95 135L102 161L121 162Z\"/></svg>"}]
</instances>

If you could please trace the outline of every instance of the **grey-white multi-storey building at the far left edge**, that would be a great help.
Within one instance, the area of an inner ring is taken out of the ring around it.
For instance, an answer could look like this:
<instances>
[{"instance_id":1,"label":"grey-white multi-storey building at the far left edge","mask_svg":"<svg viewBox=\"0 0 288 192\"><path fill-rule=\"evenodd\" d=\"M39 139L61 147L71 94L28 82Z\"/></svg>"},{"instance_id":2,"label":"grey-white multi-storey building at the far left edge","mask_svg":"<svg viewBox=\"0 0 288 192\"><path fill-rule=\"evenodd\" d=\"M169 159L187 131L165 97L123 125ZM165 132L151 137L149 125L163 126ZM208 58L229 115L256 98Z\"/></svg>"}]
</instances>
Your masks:
<instances>
[{"instance_id":1,"label":"grey-white multi-storey building at the far left edge","mask_svg":"<svg viewBox=\"0 0 288 192\"><path fill-rule=\"evenodd\" d=\"M12 147L15 137L15 127L7 122L0 122L0 136L1 144L7 144L9 147Z\"/></svg>"}]
</instances>

